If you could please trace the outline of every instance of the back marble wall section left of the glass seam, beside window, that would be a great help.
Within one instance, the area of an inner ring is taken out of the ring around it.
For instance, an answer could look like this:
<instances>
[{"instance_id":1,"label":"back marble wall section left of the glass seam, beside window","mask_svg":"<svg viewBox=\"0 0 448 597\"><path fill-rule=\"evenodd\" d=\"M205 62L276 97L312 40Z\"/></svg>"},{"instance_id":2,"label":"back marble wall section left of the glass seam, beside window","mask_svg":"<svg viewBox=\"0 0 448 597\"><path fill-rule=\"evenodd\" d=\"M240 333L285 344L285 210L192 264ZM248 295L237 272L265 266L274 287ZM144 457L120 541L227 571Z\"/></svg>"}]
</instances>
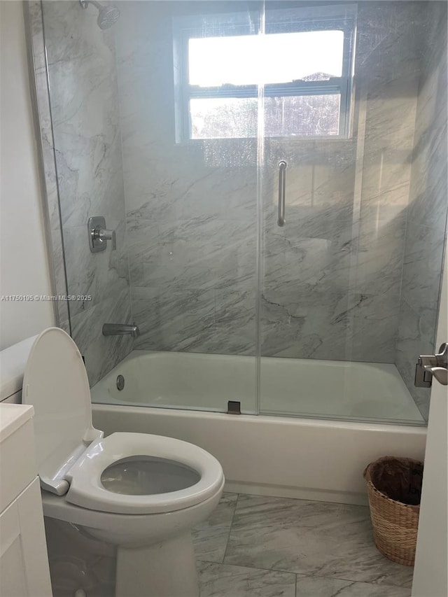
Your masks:
<instances>
[{"instance_id":1,"label":"back marble wall section left of the glass seam, beside window","mask_svg":"<svg viewBox=\"0 0 448 597\"><path fill-rule=\"evenodd\" d=\"M232 4L120 4L118 82L132 307L142 332L137 349L255 354L256 141L176 143L174 128L172 16Z\"/></svg>"}]
</instances>

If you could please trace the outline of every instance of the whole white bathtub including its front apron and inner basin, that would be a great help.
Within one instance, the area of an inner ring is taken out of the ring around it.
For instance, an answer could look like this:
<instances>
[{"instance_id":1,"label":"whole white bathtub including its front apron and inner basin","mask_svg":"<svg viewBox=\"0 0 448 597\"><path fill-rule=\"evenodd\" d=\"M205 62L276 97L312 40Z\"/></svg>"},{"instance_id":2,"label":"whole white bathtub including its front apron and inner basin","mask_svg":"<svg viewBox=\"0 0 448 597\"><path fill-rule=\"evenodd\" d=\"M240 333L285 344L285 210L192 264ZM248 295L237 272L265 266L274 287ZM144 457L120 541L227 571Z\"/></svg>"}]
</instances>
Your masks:
<instances>
[{"instance_id":1,"label":"whole white bathtub including its front apron and inner basin","mask_svg":"<svg viewBox=\"0 0 448 597\"><path fill-rule=\"evenodd\" d=\"M258 415L255 381L250 356L134 351L92 388L94 426L193 442L227 491L265 496L363 505L367 463L423 459L426 427L394 365L263 357Z\"/></svg>"}]
</instances>

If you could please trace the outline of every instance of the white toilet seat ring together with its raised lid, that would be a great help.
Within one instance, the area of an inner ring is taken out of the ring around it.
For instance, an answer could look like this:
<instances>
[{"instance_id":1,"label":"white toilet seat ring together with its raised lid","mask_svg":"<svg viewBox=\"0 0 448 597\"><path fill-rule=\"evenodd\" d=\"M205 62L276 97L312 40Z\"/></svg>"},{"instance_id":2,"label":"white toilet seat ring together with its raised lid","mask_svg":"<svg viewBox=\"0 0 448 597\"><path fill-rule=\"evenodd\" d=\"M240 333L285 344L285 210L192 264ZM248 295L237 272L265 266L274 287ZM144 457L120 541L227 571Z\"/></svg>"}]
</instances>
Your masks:
<instances>
[{"instance_id":1,"label":"white toilet seat ring together with its raised lid","mask_svg":"<svg viewBox=\"0 0 448 597\"><path fill-rule=\"evenodd\" d=\"M103 432L92 426L90 388L83 358L60 328L39 335L29 354L22 402L34 406L41 486L66 502L98 512L158 514L200 504L223 486L221 465L188 442L146 433ZM125 458L164 458L186 465L199 481L178 491L128 495L102 484L102 474Z\"/></svg>"}]
</instances>

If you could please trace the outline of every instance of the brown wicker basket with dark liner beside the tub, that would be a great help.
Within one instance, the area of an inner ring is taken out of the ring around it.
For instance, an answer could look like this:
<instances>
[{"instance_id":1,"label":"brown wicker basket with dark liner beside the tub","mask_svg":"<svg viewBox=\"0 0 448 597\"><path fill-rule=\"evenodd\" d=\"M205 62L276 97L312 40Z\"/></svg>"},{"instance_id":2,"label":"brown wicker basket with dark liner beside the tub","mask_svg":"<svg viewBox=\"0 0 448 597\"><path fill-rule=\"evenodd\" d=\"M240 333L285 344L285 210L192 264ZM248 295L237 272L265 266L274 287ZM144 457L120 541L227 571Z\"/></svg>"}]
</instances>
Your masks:
<instances>
[{"instance_id":1,"label":"brown wicker basket with dark liner beside the tub","mask_svg":"<svg viewBox=\"0 0 448 597\"><path fill-rule=\"evenodd\" d=\"M375 545L405 566L414 565L422 477L423 463L394 456L379 458L364 471Z\"/></svg>"}]
</instances>

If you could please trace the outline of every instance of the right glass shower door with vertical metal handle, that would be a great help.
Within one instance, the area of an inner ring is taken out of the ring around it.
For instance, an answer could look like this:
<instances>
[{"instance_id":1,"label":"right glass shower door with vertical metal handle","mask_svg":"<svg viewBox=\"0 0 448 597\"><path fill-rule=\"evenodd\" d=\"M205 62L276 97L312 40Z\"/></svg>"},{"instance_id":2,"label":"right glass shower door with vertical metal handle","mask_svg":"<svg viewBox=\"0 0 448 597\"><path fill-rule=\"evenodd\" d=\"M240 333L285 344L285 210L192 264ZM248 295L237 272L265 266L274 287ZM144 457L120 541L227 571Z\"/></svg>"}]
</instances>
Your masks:
<instances>
[{"instance_id":1,"label":"right glass shower door with vertical metal handle","mask_svg":"<svg viewBox=\"0 0 448 597\"><path fill-rule=\"evenodd\" d=\"M424 4L265 4L260 414L423 423L397 363Z\"/></svg>"}]
</instances>

